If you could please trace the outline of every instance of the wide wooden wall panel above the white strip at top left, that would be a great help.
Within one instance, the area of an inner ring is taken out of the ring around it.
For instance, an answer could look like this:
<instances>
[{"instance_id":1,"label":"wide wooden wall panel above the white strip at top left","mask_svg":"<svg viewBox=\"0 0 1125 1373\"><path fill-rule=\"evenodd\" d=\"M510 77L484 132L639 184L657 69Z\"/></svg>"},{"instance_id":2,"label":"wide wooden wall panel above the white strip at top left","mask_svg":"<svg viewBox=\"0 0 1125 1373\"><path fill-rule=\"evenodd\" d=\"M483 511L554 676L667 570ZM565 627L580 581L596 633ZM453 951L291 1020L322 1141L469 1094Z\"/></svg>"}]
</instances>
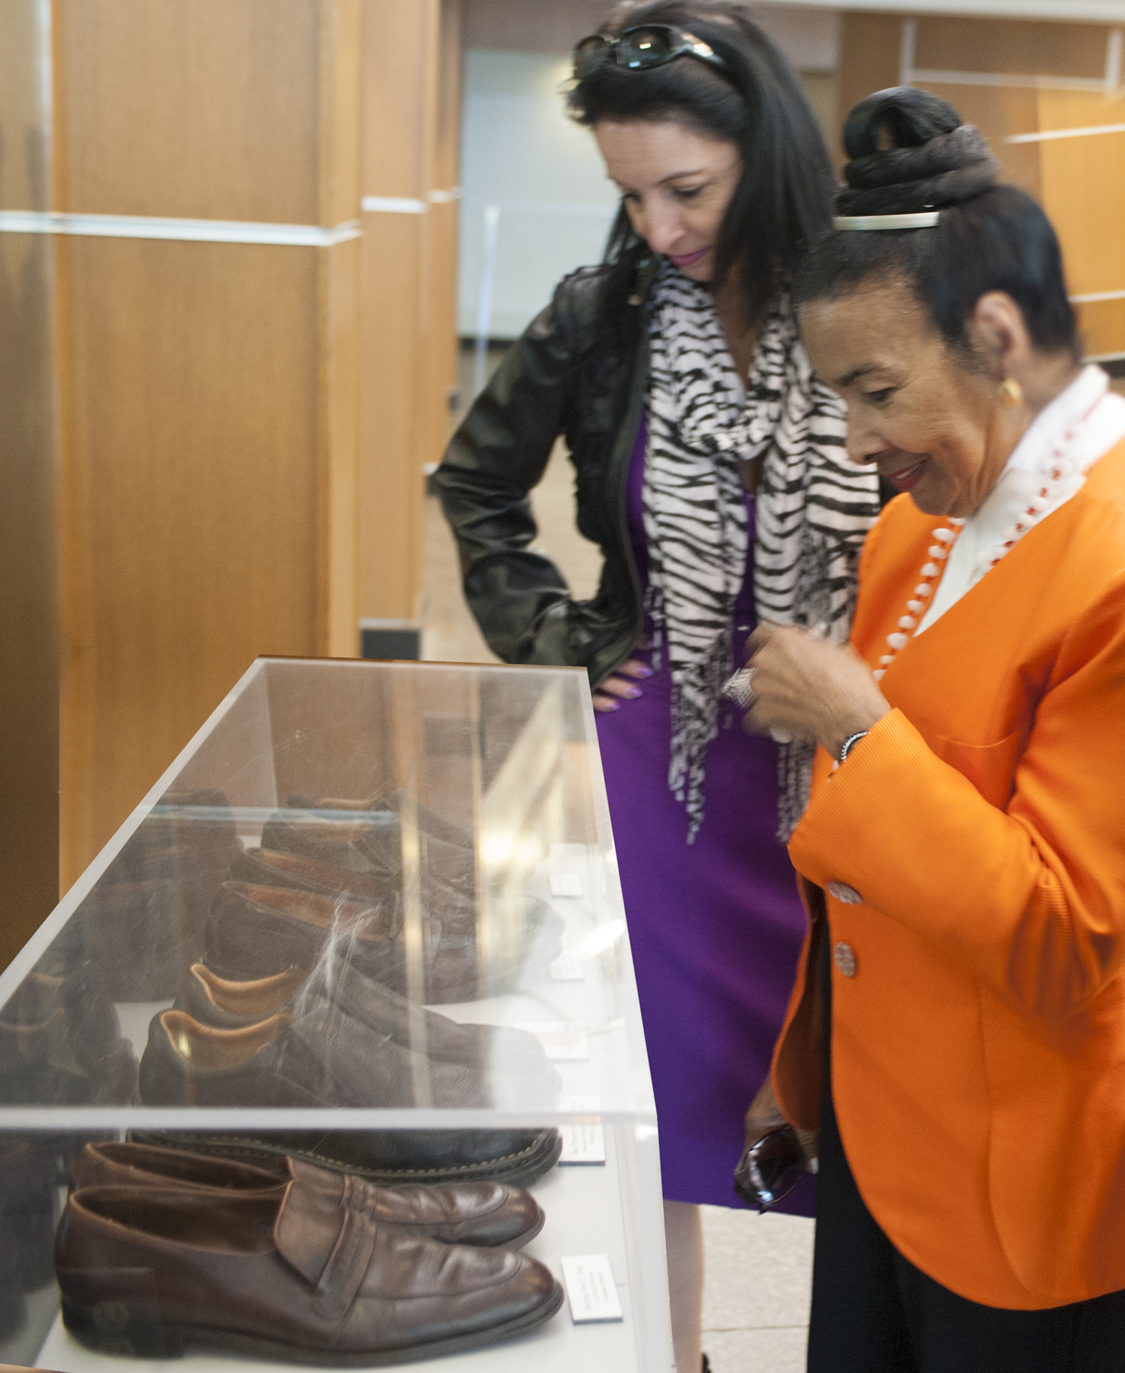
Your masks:
<instances>
[{"instance_id":1,"label":"wide wooden wall panel above the white strip at top left","mask_svg":"<svg viewBox=\"0 0 1125 1373\"><path fill-rule=\"evenodd\" d=\"M318 221L318 0L54 8L56 209Z\"/></svg>"}]
</instances>

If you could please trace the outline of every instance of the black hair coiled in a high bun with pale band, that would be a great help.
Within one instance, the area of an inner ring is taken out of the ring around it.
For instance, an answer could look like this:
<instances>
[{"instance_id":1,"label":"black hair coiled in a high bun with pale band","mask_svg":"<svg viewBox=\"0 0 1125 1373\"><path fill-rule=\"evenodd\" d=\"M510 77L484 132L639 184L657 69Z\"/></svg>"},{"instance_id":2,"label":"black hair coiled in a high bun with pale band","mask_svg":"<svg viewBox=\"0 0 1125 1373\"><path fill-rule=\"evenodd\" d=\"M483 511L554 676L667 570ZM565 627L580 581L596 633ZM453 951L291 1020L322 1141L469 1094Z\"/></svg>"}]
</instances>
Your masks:
<instances>
[{"instance_id":1,"label":"black hair coiled in a high bun with pale band","mask_svg":"<svg viewBox=\"0 0 1125 1373\"><path fill-rule=\"evenodd\" d=\"M1044 353L1080 358L1074 309L1051 221L1013 185L984 135L945 100L914 86L867 96L848 115L851 162L840 192L842 216L940 210L937 228L831 231L805 258L797 299L844 295L870 277L905 281L970 368L981 364L967 338L977 301L1006 291Z\"/></svg>"}]
</instances>

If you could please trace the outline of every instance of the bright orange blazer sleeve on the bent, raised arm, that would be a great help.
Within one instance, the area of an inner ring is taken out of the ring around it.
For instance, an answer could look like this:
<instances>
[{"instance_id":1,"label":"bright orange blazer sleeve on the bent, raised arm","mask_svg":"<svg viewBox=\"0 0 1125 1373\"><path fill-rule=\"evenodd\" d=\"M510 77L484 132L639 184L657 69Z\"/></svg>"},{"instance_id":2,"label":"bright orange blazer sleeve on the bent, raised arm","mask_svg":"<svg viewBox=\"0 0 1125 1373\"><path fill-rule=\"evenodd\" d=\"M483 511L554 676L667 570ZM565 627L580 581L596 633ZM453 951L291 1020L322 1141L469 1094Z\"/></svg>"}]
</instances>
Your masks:
<instances>
[{"instance_id":1,"label":"bright orange blazer sleeve on the bent, raised arm","mask_svg":"<svg viewBox=\"0 0 1125 1373\"><path fill-rule=\"evenodd\" d=\"M1000 809L892 710L789 851L1021 1015L1066 1017L1125 964L1125 573L1071 625L1006 772L986 788L1010 798Z\"/></svg>"}]
</instances>

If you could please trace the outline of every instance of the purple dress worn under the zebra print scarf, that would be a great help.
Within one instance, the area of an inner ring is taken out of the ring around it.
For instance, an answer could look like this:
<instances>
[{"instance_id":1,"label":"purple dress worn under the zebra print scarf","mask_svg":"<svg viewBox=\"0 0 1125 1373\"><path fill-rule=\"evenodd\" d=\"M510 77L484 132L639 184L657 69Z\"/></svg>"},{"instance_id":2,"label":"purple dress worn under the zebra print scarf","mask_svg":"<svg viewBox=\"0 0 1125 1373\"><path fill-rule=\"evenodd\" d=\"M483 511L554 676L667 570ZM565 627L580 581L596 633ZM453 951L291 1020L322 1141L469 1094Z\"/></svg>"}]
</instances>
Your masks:
<instances>
[{"instance_id":1,"label":"purple dress worn under the zebra print scarf","mask_svg":"<svg viewBox=\"0 0 1125 1373\"><path fill-rule=\"evenodd\" d=\"M646 427L628 471L637 568L648 574L643 522ZM734 619L734 659L755 627L750 552ZM645 658L646 655L638 654ZM731 663L734 670L735 662ZM733 713L707 751L705 811L687 844L687 811L668 789L671 674L667 659L638 682L643 696L598 714L605 785L621 875L670 1201L741 1207L731 1174L742 1118L770 1071L805 916L778 828L778 751ZM779 1211L812 1215L804 1178Z\"/></svg>"}]
</instances>

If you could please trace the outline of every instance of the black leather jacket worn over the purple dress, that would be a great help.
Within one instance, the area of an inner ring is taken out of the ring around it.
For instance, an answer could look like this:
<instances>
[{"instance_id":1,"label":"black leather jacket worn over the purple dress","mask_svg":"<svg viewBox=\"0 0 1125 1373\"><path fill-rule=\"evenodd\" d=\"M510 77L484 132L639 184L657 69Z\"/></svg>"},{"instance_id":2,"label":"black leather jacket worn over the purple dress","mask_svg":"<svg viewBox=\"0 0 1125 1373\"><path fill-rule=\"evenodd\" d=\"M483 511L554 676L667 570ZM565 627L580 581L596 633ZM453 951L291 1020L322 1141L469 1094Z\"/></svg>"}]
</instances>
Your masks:
<instances>
[{"instance_id":1,"label":"black leather jacket worn over the purple dress","mask_svg":"<svg viewBox=\"0 0 1125 1373\"><path fill-rule=\"evenodd\" d=\"M465 599L509 663L582 666L595 685L630 654L642 625L626 524L626 482L649 373L642 261L620 343L595 349L604 268L582 268L504 357L457 430L434 482L461 553ZM578 478L578 527L605 556L601 585L573 600L558 568L531 552L528 493L558 435Z\"/></svg>"}]
</instances>

